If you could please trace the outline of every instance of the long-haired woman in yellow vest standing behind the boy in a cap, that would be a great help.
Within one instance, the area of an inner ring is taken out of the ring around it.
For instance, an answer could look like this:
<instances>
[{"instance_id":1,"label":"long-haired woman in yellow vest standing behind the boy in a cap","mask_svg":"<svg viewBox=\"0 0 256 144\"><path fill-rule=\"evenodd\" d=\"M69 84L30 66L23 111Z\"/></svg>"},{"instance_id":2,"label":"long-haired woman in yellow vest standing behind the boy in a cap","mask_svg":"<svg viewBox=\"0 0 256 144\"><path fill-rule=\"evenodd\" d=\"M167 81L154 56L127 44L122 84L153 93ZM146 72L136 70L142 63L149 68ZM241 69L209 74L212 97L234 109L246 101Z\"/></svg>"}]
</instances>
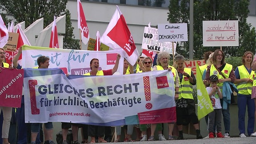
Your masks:
<instances>
[{"instance_id":1,"label":"long-haired woman in yellow vest standing behind the boy in a cap","mask_svg":"<svg viewBox=\"0 0 256 144\"><path fill-rule=\"evenodd\" d=\"M218 69L216 69L218 68ZM204 84L209 86L209 79L211 75L218 76L218 87L222 92L222 86L224 82L232 82L234 83L236 80L235 73L233 71L233 66L231 64L225 63L225 56L222 50L216 49L212 56L212 65L207 67L207 72L205 75ZM220 72L225 76L225 78L220 74ZM230 131L230 113L229 113L229 104L227 104L227 108L223 107L224 98L220 99L221 107L222 107L222 115L225 127L224 137L229 138L229 131Z\"/></svg>"}]
</instances>

